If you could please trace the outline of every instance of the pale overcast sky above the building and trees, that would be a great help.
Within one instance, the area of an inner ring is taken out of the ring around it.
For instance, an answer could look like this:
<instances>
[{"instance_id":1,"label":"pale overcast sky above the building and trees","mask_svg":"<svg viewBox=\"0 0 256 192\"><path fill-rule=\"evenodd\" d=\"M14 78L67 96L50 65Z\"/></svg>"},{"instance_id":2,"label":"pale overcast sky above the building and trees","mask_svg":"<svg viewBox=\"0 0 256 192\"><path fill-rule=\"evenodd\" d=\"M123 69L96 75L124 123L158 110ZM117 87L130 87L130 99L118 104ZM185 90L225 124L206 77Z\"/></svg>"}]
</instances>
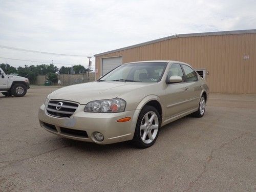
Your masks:
<instances>
[{"instance_id":1,"label":"pale overcast sky above the building and trees","mask_svg":"<svg viewBox=\"0 0 256 192\"><path fill-rule=\"evenodd\" d=\"M255 0L0 0L0 45L94 55L174 34L256 29L255 10ZM3 48L0 57L88 66L87 57ZM0 58L2 62L14 67L39 64Z\"/></svg>"}]
</instances>

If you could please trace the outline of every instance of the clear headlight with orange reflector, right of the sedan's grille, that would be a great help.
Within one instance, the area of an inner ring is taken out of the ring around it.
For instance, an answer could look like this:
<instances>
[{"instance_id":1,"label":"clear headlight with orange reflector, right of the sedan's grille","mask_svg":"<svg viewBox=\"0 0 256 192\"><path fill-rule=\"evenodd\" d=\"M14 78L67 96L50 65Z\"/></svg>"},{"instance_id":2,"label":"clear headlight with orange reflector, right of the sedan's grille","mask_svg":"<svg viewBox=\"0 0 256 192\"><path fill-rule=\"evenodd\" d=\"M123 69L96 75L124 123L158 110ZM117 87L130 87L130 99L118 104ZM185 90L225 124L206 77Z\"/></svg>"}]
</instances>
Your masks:
<instances>
[{"instance_id":1,"label":"clear headlight with orange reflector, right of the sedan's grille","mask_svg":"<svg viewBox=\"0 0 256 192\"><path fill-rule=\"evenodd\" d=\"M83 111L94 113L118 113L124 111L125 105L126 102L119 98L98 100L87 103Z\"/></svg>"}]
</instances>

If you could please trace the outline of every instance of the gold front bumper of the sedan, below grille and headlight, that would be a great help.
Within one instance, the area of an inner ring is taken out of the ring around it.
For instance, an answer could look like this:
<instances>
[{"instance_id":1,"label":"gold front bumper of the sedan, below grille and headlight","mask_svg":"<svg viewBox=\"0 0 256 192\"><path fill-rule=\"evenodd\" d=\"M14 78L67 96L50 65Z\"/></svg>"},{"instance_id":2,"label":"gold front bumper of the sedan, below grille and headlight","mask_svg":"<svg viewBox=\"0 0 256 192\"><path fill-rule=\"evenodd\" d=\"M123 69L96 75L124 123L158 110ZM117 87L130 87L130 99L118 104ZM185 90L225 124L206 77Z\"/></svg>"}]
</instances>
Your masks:
<instances>
[{"instance_id":1,"label":"gold front bumper of the sedan, below grille and headlight","mask_svg":"<svg viewBox=\"0 0 256 192\"><path fill-rule=\"evenodd\" d=\"M84 106L79 105L69 118L58 118L47 114L46 105L42 104L38 112L39 123L53 134L80 141L110 144L133 139L139 110L121 113L86 113L83 111ZM117 122L124 117L131 117L131 120ZM93 137L94 132L101 133L104 140L97 141Z\"/></svg>"}]
</instances>

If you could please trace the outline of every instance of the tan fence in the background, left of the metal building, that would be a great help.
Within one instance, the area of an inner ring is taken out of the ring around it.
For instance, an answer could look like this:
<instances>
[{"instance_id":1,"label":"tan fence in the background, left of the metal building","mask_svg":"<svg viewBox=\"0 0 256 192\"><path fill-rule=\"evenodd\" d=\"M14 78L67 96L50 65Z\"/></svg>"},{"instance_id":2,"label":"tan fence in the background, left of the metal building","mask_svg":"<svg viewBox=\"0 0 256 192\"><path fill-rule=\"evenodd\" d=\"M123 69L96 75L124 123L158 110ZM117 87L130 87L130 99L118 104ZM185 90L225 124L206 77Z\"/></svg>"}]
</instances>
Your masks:
<instances>
[{"instance_id":1,"label":"tan fence in the background, left of the metal building","mask_svg":"<svg viewBox=\"0 0 256 192\"><path fill-rule=\"evenodd\" d=\"M36 82L38 86L44 85L47 80L47 75L38 75L36 77ZM61 81L62 86L70 86L71 84L78 84L87 81L87 73L83 74L60 74L58 75L58 80ZM89 82L94 81L94 73L89 73ZM57 83L54 83L57 84Z\"/></svg>"}]
</instances>

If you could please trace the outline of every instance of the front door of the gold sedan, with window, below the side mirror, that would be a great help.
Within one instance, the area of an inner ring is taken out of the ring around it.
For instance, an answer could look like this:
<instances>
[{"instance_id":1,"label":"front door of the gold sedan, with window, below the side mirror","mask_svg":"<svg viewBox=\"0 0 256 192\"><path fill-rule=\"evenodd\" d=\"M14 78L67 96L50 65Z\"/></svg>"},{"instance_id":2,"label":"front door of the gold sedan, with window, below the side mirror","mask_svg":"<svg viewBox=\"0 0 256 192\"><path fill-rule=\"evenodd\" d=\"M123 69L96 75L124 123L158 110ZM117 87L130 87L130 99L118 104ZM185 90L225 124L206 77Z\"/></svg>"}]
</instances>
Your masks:
<instances>
[{"instance_id":1,"label":"front door of the gold sedan, with window, below the side mirror","mask_svg":"<svg viewBox=\"0 0 256 192\"><path fill-rule=\"evenodd\" d=\"M187 110L187 103L189 96L187 92L187 83L184 77L182 68L179 63L173 63L168 71L167 80L172 75L182 77L182 82L168 83L165 89L165 118L171 118L175 115L181 114Z\"/></svg>"}]
</instances>

